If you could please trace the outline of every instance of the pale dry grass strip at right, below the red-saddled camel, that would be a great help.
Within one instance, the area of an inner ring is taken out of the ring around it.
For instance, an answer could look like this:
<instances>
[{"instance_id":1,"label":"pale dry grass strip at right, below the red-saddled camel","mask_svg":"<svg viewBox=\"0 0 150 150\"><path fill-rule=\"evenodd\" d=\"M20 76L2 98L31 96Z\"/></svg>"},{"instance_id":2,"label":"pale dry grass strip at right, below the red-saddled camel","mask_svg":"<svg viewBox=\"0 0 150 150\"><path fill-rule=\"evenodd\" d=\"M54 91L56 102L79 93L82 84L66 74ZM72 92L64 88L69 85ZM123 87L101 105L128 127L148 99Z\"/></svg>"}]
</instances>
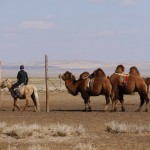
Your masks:
<instances>
[{"instance_id":1,"label":"pale dry grass strip at right, below the red-saddled camel","mask_svg":"<svg viewBox=\"0 0 150 150\"><path fill-rule=\"evenodd\" d=\"M150 124L146 125L134 125L127 123L118 123L116 121L106 123L107 131L114 133L149 133L150 132Z\"/></svg>"}]
</instances>

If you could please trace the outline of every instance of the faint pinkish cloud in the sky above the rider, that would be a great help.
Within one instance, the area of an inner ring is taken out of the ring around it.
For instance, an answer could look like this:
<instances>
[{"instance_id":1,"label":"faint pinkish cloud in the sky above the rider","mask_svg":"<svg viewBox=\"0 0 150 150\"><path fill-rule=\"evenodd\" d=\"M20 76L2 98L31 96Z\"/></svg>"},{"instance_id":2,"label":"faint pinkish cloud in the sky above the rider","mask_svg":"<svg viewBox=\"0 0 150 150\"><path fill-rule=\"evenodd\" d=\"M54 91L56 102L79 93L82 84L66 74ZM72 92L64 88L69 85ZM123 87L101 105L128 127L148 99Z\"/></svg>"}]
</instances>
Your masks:
<instances>
[{"instance_id":1,"label":"faint pinkish cloud in the sky above the rider","mask_svg":"<svg viewBox=\"0 0 150 150\"><path fill-rule=\"evenodd\" d=\"M54 28L55 24L53 22L46 22L42 20L24 21L19 24L21 29L32 29L32 30L48 30Z\"/></svg>"}]
</instances>

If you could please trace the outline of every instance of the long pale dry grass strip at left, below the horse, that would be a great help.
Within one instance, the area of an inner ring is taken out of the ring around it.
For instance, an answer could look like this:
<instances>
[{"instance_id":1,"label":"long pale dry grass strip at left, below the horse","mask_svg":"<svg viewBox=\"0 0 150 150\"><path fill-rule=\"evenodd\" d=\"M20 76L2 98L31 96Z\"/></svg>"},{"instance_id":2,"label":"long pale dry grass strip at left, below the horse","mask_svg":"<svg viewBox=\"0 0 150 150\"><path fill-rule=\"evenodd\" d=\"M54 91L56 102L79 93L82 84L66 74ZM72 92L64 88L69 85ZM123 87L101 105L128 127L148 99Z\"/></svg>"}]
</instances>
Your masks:
<instances>
[{"instance_id":1,"label":"long pale dry grass strip at left, below the horse","mask_svg":"<svg viewBox=\"0 0 150 150\"><path fill-rule=\"evenodd\" d=\"M66 136L82 136L85 133L84 128L79 125L73 127L65 124L51 124L41 126L38 124L14 124L7 126L5 122L0 124L1 134L13 137L15 139L24 138L44 138L45 136L66 137Z\"/></svg>"}]
</instances>

